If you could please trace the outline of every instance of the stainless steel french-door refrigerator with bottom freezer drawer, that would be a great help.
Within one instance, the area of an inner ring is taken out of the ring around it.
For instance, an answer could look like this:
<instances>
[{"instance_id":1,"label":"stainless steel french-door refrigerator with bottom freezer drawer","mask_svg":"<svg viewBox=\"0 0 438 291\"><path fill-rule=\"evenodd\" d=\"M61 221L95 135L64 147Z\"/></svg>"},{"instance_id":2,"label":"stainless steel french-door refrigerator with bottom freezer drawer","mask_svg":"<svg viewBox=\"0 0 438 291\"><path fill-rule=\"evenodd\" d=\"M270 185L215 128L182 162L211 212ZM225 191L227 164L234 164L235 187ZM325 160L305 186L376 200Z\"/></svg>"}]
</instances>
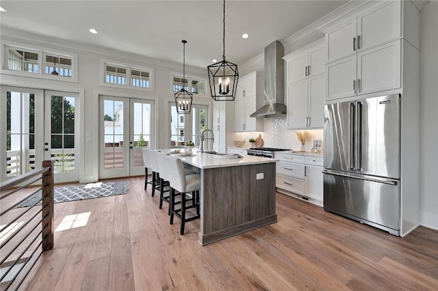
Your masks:
<instances>
[{"instance_id":1,"label":"stainless steel french-door refrigerator with bottom freezer drawer","mask_svg":"<svg viewBox=\"0 0 438 291\"><path fill-rule=\"evenodd\" d=\"M399 94L324 106L324 209L400 235Z\"/></svg>"}]
</instances>

